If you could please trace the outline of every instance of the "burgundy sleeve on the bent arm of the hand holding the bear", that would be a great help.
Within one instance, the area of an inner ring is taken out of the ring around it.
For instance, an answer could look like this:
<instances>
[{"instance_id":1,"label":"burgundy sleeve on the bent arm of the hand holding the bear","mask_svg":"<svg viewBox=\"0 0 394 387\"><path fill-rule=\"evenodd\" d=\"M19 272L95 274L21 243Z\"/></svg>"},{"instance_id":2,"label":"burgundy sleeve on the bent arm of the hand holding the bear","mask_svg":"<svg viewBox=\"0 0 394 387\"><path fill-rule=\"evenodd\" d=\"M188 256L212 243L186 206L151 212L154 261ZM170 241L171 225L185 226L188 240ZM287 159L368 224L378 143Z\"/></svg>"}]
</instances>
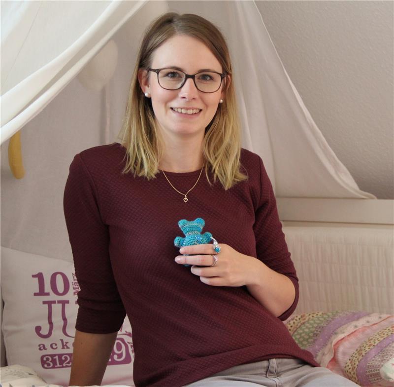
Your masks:
<instances>
[{"instance_id":1,"label":"burgundy sleeve on the bent arm of the hand holding the bear","mask_svg":"<svg viewBox=\"0 0 394 387\"><path fill-rule=\"evenodd\" d=\"M276 199L272 189L271 181L264 168L263 160L260 158L260 201L255 212L255 223L253 230L256 237L256 253L270 269L286 275L293 282L296 289L296 297L292 306L282 313L278 318L285 320L296 309L298 303L298 278L291 254L279 221Z\"/></svg>"}]
</instances>

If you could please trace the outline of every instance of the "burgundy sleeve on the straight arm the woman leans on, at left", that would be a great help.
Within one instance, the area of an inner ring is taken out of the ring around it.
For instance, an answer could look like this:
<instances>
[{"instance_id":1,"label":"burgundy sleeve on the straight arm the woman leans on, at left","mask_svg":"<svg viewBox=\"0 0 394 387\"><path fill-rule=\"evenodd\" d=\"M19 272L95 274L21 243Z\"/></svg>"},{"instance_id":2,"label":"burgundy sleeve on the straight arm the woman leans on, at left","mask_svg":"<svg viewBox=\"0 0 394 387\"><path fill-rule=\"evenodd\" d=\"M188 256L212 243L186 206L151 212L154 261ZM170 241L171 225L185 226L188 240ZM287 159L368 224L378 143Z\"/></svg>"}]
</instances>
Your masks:
<instances>
[{"instance_id":1,"label":"burgundy sleeve on the straight arm the woman leans on, at left","mask_svg":"<svg viewBox=\"0 0 394 387\"><path fill-rule=\"evenodd\" d=\"M70 164L63 205L80 287L75 328L116 332L126 312L111 268L108 227L101 219L98 191L80 154Z\"/></svg>"}]
</instances>

